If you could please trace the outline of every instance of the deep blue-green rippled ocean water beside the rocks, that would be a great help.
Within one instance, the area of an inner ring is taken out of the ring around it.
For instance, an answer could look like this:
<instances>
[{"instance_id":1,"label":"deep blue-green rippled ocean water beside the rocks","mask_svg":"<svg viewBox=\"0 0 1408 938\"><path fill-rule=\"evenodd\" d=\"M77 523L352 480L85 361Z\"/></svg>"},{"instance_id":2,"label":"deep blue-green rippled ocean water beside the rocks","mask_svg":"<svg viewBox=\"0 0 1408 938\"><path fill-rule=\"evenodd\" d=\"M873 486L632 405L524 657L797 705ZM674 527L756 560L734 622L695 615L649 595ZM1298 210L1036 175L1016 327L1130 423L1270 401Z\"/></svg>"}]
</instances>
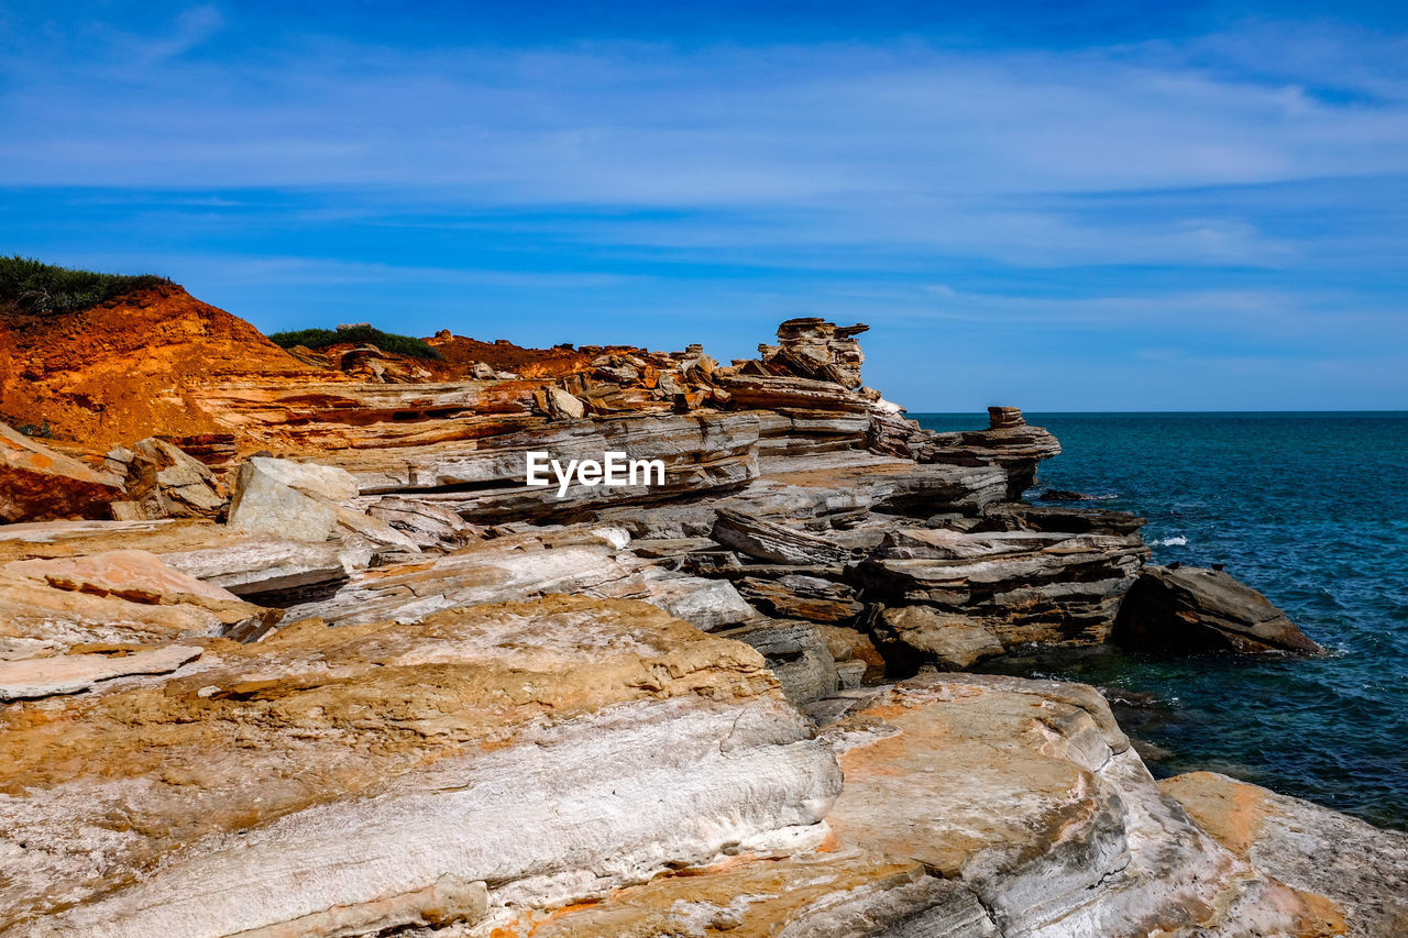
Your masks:
<instances>
[{"instance_id":1,"label":"deep blue-green rippled ocean water beside the rocks","mask_svg":"<svg viewBox=\"0 0 1408 938\"><path fill-rule=\"evenodd\" d=\"M1408 830L1408 413L1026 418L1064 451L1028 500L1067 489L1142 514L1155 562L1226 563L1332 655L1101 651L998 668L1105 689L1126 731L1153 744L1156 775L1212 769Z\"/></svg>"}]
</instances>

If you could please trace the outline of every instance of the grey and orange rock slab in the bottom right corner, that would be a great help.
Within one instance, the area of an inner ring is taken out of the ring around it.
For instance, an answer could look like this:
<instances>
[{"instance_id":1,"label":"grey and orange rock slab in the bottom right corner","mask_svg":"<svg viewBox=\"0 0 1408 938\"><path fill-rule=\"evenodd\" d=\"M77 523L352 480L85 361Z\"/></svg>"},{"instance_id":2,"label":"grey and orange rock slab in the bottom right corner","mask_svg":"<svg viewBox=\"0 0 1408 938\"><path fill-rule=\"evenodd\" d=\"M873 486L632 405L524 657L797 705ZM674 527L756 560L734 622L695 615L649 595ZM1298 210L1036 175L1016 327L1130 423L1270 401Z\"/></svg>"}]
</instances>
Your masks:
<instances>
[{"instance_id":1,"label":"grey and orange rock slab in the bottom right corner","mask_svg":"<svg viewBox=\"0 0 1408 938\"><path fill-rule=\"evenodd\" d=\"M1159 783L1200 828L1264 876L1322 896L1347 935L1408 934L1408 834L1214 772Z\"/></svg>"}]
</instances>

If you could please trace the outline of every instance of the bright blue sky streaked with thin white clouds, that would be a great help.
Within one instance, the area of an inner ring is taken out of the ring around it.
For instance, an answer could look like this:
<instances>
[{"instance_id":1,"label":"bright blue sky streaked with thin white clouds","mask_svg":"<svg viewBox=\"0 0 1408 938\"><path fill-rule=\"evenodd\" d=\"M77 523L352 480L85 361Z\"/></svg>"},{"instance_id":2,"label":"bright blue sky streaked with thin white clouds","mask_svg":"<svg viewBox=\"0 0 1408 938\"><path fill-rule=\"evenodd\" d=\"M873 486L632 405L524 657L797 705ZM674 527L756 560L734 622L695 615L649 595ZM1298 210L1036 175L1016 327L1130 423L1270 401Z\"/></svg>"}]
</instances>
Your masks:
<instances>
[{"instance_id":1,"label":"bright blue sky streaked with thin white clouds","mask_svg":"<svg viewBox=\"0 0 1408 938\"><path fill-rule=\"evenodd\" d=\"M266 332L869 323L911 411L1408 410L1408 4L0 0L0 252Z\"/></svg>"}]
</instances>

